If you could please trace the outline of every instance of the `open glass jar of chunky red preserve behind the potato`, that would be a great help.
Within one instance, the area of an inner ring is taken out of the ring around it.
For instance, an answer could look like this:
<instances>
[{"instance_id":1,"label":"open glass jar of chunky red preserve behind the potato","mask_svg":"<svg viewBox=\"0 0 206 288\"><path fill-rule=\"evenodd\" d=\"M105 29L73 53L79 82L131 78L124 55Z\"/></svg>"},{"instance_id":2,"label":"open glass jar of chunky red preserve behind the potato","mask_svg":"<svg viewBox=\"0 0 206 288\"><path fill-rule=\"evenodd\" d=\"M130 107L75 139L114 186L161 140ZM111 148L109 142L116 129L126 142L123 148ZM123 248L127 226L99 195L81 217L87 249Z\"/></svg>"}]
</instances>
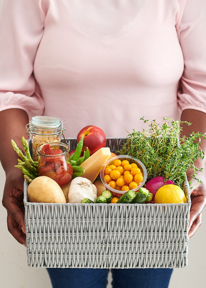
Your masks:
<instances>
[{"instance_id":1,"label":"open glass jar of chunky red preserve behind the potato","mask_svg":"<svg viewBox=\"0 0 206 288\"><path fill-rule=\"evenodd\" d=\"M48 143L37 149L38 175L52 178L62 188L69 184L73 175L69 146L64 143Z\"/></svg>"}]
</instances>

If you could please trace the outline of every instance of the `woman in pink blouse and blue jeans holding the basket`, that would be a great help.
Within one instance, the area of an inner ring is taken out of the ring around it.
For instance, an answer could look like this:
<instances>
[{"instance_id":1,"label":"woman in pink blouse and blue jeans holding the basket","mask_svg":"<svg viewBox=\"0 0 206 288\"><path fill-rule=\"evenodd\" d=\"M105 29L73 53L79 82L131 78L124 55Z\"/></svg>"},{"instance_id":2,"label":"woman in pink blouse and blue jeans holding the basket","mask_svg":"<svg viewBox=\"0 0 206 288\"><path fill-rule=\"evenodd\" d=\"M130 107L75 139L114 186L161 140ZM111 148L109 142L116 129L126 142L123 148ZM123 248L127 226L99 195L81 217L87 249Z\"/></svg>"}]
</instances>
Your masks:
<instances>
[{"instance_id":1,"label":"woman in pink blouse and blue jeans holding the basket","mask_svg":"<svg viewBox=\"0 0 206 288\"><path fill-rule=\"evenodd\" d=\"M186 136L205 132L205 0L5 0L0 27L3 205L8 230L24 246L23 177L10 140L20 147L28 117L65 119L67 137L89 124L125 137L125 129L142 129L142 115L157 122L181 115L193 123ZM189 237L206 203L204 171L197 176ZM105 269L48 272L54 287L105 287L107 278ZM114 287L167 287L171 272L114 269Z\"/></svg>"}]
</instances>

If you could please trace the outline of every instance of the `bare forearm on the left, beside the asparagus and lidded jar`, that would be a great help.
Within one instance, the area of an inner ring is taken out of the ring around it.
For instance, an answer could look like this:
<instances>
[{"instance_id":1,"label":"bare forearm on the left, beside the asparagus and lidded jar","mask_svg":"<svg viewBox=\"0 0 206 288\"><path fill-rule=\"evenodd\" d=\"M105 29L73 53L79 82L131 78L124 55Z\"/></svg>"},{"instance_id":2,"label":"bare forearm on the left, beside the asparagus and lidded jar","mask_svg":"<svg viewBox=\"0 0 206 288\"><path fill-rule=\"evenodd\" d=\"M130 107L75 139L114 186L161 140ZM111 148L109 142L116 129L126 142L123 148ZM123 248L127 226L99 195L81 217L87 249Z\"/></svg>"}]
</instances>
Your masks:
<instances>
[{"instance_id":1,"label":"bare forearm on the left, beside the asparagus and lidded jar","mask_svg":"<svg viewBox=\"0 0 206 288\"><path fill-rule=\"evenodd\" d=\"M22 109L7 109L0 112L0 159L6 175L17 165L18 155L11 145L13 139L20 149L23 149L21 138L28 138L25 126L28 115ZM18 170L18 169L16 169Z\"/></svg>"}]
</instances>

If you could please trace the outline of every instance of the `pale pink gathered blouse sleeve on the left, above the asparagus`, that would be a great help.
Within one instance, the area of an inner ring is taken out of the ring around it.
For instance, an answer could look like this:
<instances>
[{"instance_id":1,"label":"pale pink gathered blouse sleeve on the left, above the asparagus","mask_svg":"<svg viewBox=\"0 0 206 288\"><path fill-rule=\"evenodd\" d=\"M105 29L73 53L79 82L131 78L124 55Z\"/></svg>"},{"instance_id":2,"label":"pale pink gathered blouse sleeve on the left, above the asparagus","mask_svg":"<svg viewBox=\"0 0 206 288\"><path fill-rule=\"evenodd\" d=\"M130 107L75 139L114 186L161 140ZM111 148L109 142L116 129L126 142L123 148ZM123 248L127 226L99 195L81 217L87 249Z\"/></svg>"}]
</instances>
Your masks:
<instances>
[{"instance_id":1,"label":"pale pink gathered blouse sleeve on the left, above the asparagus","mask_svg":"<svg viewBox=\"0 0 206 288\"><path fill-rule=\"evenodd\" d=\"M44 0L5 0L0 20L0 111L41 115L44 101L33 62L44 31Z\"/></svg>"}]
</instances>

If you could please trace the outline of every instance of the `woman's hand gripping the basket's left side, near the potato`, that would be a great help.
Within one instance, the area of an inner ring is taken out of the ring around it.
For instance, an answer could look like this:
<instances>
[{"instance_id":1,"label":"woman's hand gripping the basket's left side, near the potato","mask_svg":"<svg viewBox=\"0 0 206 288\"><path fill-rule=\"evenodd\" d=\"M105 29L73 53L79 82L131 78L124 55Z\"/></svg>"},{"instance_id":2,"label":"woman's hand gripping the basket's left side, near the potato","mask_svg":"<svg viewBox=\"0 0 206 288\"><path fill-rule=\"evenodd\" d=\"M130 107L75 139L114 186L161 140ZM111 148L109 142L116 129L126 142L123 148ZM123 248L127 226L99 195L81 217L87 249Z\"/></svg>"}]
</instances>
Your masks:
<instances>
[{"instance_id":1,"label":"woman's hand gripping the basket's left side, near the potato","mask_svg":"<svg viewBox=\"0 0 206 288\"><path fill-rule=\"evenodd\" d=\"M23 203L24 177L22 171L13 168L6 175L2 204L7 210L7 227L12 236L26 247Z\"/></svg>"}]
</instances>

